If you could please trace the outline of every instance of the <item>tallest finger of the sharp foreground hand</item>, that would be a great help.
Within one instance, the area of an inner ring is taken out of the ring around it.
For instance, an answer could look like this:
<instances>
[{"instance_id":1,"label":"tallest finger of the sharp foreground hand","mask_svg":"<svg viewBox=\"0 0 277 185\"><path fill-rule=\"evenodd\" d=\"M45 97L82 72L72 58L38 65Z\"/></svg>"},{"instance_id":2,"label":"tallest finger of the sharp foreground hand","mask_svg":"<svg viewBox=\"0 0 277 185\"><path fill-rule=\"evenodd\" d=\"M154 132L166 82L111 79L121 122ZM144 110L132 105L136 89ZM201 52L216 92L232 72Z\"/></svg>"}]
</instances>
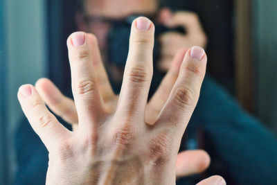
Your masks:
<instances>
[{"instance_id":1,"label":"tallest finger of the sharp foreground hand","mask_svg":"<svg viewBox=\"0 0 277 185\"><path fill-rule=\"evenodd\" d=\"M135 19L118 100L118 111L129 117L145 114L153 73L153 47L154 24L146 17Z\"/></svg>"}]
</instances>

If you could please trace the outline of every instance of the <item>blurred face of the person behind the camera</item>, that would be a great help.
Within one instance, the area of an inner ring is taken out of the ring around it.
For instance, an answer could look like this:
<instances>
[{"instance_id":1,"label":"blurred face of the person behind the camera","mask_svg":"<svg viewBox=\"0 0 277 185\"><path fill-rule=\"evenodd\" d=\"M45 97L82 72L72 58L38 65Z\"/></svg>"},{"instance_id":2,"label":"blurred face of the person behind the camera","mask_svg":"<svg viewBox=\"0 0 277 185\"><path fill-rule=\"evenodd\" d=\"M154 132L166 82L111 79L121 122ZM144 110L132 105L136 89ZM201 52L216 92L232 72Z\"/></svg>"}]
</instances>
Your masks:
<instances>
[{"instance_id":1,"label":"blurred face of the person behind the camera","mask_svg":"<svg viewBox=\"0 0 277 185\"><path fill-rule=\"evenodd\" d=\"M102 19L123 19L134 14L152 15L157 11L157 0L87 0L84 7L84 15L90 19L83 27L85 31L95 34L100 49L105 49L111 25Z\"/></svg>"}]
</instances>

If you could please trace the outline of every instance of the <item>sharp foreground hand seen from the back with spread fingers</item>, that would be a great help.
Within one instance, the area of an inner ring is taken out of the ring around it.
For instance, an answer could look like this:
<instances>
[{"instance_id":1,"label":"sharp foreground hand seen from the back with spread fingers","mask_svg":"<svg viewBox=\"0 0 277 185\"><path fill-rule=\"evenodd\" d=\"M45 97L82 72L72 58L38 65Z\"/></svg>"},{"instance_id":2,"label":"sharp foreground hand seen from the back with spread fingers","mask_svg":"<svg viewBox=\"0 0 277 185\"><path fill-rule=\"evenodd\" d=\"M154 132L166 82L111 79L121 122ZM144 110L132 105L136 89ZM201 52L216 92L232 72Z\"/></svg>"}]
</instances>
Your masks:
<instances>
[{"instance_id":1,"label":"sharp foreground hand seen from the back with spread fingers","mask_svg":"<svg viewBox=\"0 0 277 185\"><path fill-rule=\"evenodd\" d=\"M177 152L199 97L206 55L199 47L186 53L157 121L146 123L154 25L141 30L139 22L147 21L140 17L132 25L123 88L113 112L98 85L96 38L90 34L74 33L67 43L77 130L58 123L35 87L19 89L21 107L49 151L47 184L175 184Z\"/></svg>"}]
</instances>

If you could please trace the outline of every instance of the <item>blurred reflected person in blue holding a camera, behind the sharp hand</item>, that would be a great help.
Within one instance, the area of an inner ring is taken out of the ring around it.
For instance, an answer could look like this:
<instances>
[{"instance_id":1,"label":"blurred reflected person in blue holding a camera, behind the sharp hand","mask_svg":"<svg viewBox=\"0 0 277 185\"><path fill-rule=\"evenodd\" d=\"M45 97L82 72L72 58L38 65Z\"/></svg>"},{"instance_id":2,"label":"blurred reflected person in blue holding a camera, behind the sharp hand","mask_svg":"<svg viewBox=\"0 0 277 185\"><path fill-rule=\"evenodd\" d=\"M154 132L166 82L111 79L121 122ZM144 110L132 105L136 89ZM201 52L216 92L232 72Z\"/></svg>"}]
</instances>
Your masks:
<instances>
[{"instance_id":1,"label":"blurred reflected person in blue holding a camera, behind the sharp hand","mask_svg":"<svg viewBox=\"0 0 277 185\"><path fill-rule=\"evenodd\" d=\"M161 52L155 70L161 75L155 77L154 73L152 92L157 89L163 72L170 71L173 56L177 51L182 49L185 52L195 45L205 48L207 44L208 39L195 13L161 9L158 0L80 1L80 9L76 14L78 28L93 33L98 38L105 68L116 92L120 90L124 68L108 61L107 35L113 28L113 22L125 20L131 15L153 17L154 23L168 28L181 26L186 30L186 33L172 31L159 36ZM161 84L161 88L165 89L164 96L167 96L167 89L172 87L178 75L174 70L168 74L168 80ZM39 80L36 88L53 112L64 118L67 123L71 123L73 127L78 125L73 100L65 98L46 79ZM114 105L117 96L111 97L111 105ZM163 100L151 99L150 101L157 107L160 102ZM149 120L149 122L154 121ZM32 147L30 148L26 143L30 143ZM206 153L197 149L208 151L211 156L211 167L208 168L206 174L190 176L202 172L210 162ZM276 138L259 121L247 114L210 76L206 76L204 80L199 103L184 134L180 151L184 150L194 150L195 153L191 153L193 155L190 156L188 152L179 155L177 175L179 178L186 176L186 178L179 179L180 184L194 184L200 178L214 173L222 175L227 184L274 184L277 182L277 177L273 174L277 170ZM48 161L47 152L26 120L22 121L17 133L17 159L18 184L44 183ZM186 171L186 166L190 165L188 164L190 161L193 161L190 164L194 167Z\"/></svg>"}]
</instances>

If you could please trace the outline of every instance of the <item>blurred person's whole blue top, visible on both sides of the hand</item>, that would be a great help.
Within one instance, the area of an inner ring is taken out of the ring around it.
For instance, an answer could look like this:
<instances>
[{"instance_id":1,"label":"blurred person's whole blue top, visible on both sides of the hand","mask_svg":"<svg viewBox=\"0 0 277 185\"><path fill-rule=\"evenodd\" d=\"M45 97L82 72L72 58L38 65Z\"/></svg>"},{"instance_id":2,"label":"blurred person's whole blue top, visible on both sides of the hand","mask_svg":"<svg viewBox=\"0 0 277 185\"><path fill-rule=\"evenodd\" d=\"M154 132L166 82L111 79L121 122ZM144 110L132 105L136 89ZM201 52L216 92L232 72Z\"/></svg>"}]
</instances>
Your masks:
<instances>
[{"instance_id":1,"label":"blurred person's whole blue top, visible on both sides of the hand","mask_svg":"<svg viewBox=\"0 0 277 185\"><path fill-rule=\"evenodd\" d=\"M204 139L200 140L204 143L198 139L199 130L203 130ZM184 135L181 150L204 146L211 155L206 175L222 175L227 184L277 184L276 137L211 77L204 80L199 103ZM48 153L26 118L19 126L15 145L15 183L44 184ZM180 179L178 183L195 184L195 178Z\"/></svg>"}]
</instances>

